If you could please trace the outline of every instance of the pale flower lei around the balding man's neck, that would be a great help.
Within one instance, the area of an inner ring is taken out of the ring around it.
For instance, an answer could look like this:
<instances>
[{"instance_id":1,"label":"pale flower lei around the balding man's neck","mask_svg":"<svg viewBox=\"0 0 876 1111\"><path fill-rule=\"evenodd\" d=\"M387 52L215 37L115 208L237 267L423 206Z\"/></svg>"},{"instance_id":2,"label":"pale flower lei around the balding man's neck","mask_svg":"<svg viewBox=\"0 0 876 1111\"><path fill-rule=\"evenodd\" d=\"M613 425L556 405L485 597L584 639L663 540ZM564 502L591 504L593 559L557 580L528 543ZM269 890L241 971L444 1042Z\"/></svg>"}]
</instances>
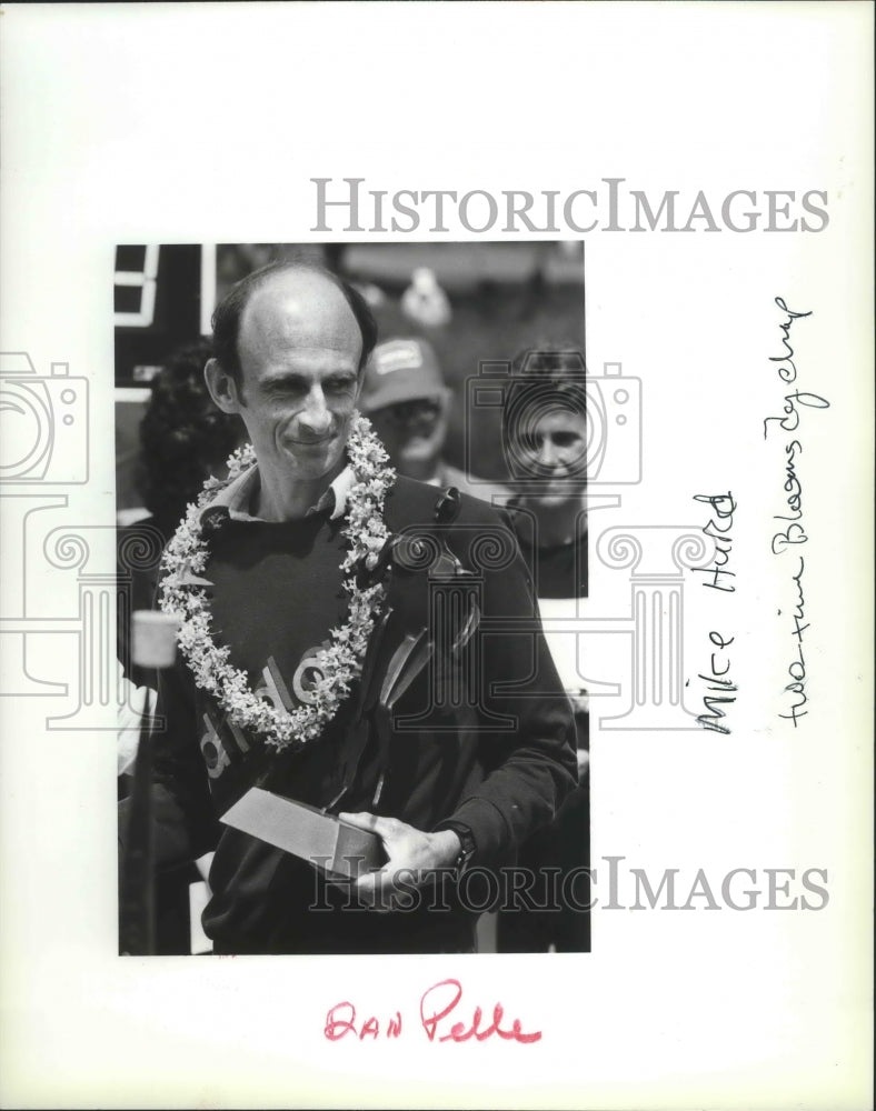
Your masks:
<instances>
[{"instance_id":1,"label":"pale flower lei around the balding man's neck","mask_svg":"<svg viewBox=\"0 0 876 1111\"><path fill-rule=\"evenodd\" d=\"M358 412L350 426L347 454L356 481L347 497L347 523L342 532L349 546L340 564L345 575L360 562L369 571L377 567L378 553L389 540L382 516L384 502L396 478L396 472L387 466L388 456L370 421ZM361 589L355 574L345 579L348 619L339 629L331 629L329 645L317 654L313 667L321 672L321 678L309 691L311 701L308 704L287 712L259 698L250 688L246 672L229 663L230 649L213 642L210 611L202 589L208 583L198 578L207 567L208 557L201 512L218 490L229 486L255 462L251 444L239 448L228 459L228 478L223 481L208 479L198 500L188 507L161 560L166 573L161 581L160 605L165 613L180 621L177 642L198 687L216 698L236 725L263 737L267 744L280 751L289 745L301 748L315 740L335 717L351 684L361 674L362 659L386 591L379 582Z\"/></svg>"}]
</instances>

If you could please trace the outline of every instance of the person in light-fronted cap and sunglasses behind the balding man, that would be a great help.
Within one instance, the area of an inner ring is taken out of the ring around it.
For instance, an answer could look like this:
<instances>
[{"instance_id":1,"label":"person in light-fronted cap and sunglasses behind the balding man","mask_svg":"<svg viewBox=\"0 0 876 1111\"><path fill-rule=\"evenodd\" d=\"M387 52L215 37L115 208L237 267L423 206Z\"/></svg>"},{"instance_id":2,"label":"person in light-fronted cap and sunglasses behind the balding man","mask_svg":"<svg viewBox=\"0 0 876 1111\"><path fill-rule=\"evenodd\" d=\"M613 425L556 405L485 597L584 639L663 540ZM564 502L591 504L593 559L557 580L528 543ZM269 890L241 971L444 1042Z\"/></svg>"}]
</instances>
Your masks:
<instances>
[{"instance_id":1,"label":"person in light-fronted cap and sunglasses behind the balding man","mask_svg":"<svg viewBox=\"0 0 876 1111\"><path fill-rule=\"evenodd\" d=\"M471 480L442 458L451 391L432 346L419 338L379 343L368 361L359 409L371 421L399 474L456 487L482 501L505 500L498 483Z\"/></svg>"}]
</instances>

